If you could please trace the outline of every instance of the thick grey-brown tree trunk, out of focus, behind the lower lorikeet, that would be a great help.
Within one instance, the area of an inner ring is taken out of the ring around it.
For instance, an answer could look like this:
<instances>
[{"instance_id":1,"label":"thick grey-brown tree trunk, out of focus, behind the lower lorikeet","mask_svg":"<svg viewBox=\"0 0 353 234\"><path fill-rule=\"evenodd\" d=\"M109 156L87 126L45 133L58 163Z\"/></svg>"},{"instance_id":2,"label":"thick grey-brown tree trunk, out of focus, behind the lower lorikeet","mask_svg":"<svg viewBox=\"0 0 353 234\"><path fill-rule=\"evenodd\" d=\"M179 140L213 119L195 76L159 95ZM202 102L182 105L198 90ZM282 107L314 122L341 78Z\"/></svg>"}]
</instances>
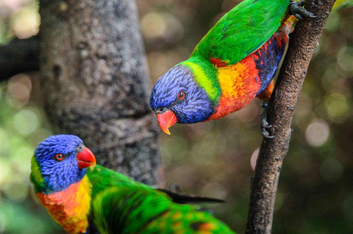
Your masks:
<instances>
[{"instance_id":1,"label":"thick grey-brown tree trunk, out of focus, behind the lower lorikeet","mask_svg":"<svg viewBox=\"0 0 353 234\"><path fill-rule=\"evenodd\" d=\"M149 71L132 0L41 0L40 67L56 133L97 163L163 186Z\"/></svg>"}]
</instances>

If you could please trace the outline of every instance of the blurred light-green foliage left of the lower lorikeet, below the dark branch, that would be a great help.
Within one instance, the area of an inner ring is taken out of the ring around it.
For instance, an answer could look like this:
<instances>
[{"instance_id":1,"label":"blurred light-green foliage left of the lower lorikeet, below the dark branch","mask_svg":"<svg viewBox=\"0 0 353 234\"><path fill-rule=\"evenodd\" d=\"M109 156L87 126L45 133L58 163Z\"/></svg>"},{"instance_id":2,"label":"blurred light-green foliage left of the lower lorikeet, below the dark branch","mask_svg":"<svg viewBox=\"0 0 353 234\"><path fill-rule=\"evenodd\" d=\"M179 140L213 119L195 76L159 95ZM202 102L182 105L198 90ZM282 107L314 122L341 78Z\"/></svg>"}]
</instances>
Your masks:
<instances>
[{"instance_id":1,"label":"blurred light-green foliage left of the lower lorikeet, below the dark branch","mask_svg":"<svg viewBox=\"0 0 353 234\"><path fill-rule=\"evenodd\" d=\"M60 230L29 181L34 148L51 134L42 108L30 99L31 89L25 74L0 83L0 233Z\"/></svg>"}]
</instances>

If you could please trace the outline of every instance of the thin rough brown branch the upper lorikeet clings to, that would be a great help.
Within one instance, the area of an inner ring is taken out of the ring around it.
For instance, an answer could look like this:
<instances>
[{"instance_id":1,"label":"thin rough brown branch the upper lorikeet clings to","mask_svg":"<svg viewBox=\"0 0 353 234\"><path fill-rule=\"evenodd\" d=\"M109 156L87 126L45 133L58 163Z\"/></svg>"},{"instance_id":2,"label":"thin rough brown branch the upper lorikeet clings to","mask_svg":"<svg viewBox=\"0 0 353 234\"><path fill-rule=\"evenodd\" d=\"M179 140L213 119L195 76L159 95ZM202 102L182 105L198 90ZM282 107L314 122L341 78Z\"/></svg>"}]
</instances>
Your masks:
<instances>
[{"instance_id":1,"label":"thin rough brown branch the upper lorikeet clings to","mask_svg":"<svg viewBox=\"0 0 353 234\"><path fill-rule=\"evenodd\" d=\"M274 92L268 121L273 139L264 138L251 185L246 233L271 233L277 186L282 162L289 149L291 123L309 62L320 40L334 0L311 0L305 8L317 18L300 21L290 35Z\"/></svg>"}]
</instances>

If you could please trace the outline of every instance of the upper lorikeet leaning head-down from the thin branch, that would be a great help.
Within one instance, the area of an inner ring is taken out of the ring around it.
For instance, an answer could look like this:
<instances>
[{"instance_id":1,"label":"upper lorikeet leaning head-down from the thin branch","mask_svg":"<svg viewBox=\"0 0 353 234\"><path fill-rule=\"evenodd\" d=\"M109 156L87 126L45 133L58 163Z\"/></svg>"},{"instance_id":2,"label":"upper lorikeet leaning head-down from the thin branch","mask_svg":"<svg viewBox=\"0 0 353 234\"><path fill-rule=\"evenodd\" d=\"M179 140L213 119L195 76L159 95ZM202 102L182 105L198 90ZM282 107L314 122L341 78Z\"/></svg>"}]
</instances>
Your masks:
<instances>
[{"instance_id":1,"label":"upper lorikeet leaning head-down from the thin branch","mask_svg":"<svg viewBox=\"0 0 353 234\"><path fill-rule=\"evenodd\" d=\"M170 134L168 128L175 123L221 118L255 96L268 101L288 34L297 22L290 12L298 18L315 17L303 4L303 0L244 0L227 12L189 59L155 83L150 106L162 130ZM268 136L264 128L262 132Z\"/></svg>"}]
</instances>

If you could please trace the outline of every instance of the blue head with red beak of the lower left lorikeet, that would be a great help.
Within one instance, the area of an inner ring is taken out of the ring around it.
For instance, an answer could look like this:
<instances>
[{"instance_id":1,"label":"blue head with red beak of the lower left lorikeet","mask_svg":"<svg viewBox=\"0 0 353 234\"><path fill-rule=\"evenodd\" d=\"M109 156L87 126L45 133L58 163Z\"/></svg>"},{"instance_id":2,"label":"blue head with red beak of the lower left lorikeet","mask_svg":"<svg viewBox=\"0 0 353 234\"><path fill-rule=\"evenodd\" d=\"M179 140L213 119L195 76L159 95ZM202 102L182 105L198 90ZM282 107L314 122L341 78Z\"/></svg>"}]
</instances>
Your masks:
<instances>
[{"instance_id":1,"label":"blue head with red beak of the lower left lorikeet","mask_svg":"<svg viewBox=\"0 0 353 234\"><path fill-rule=\"evenodd\" d=\"M37 192L64 191L83 178L87 167L95 164L93 153L77 136L49 136L34 151L30 178Z\"/></svg>"}]
</instances>

